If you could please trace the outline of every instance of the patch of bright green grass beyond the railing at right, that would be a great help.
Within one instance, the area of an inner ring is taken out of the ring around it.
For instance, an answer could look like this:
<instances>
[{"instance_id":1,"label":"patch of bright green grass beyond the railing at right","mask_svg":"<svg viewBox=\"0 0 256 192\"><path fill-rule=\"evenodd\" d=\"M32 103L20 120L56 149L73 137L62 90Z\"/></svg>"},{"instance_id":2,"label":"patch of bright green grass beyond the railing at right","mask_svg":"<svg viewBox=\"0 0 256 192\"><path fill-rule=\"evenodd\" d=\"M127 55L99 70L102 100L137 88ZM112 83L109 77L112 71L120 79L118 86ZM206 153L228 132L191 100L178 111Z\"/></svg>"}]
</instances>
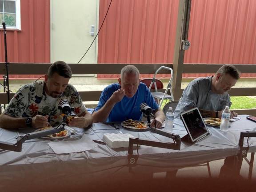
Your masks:
<instances>
[{"instance_id":1,"label":"patch of bright green grass beyond the railing at right","mask_svg":"<svg viewBox=\"0 0 256 192\"><path fill-rule=\"evenodd\" d=\"M231 109L252 109L256 108L256 97L233 96L231 97Z\"/></svg>"}]
</instances>

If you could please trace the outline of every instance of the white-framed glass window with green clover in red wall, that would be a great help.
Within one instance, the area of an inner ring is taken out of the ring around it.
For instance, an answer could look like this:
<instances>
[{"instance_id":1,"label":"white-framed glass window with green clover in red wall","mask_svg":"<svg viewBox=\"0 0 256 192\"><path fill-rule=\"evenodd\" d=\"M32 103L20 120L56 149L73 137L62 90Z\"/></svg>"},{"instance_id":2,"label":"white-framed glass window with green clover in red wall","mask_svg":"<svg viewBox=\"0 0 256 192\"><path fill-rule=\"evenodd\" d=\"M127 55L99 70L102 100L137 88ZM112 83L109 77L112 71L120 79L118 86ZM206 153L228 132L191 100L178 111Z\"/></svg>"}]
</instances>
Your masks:
<instances>
[{"instance_id":1,"label":"white-framed glass window with green clover in red wall","mask_svg":"<svg viewBox=\"0 0 256 192\"><path fill-rule=\"evenodd\" d=\"M20 29L20 0L0 0L0 27Z\"/></svg>"}]
</instances>

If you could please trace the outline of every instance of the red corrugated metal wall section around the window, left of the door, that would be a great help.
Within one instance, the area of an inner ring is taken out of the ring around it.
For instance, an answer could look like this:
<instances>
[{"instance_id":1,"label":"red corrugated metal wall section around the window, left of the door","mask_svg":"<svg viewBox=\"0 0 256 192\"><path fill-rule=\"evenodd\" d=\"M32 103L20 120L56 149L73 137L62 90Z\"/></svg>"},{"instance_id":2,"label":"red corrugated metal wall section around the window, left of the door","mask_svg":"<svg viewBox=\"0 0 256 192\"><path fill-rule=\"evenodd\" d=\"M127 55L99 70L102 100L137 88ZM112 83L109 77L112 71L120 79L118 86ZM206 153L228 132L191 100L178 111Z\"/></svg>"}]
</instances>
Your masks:
<instances>
[{"instance_id":1,"label":"red corrugated metal wall section around the window, left of the door","mask_svg":"<svg viewBox=\"0 0 256 192\"><path fill-rule=\"evenodd\" d=\"M20 17L21 30L7 30L8 62L49 63L50 0L20 0ZM0 62L5 62L4 58L4 34L1 30ZM10 78L38 76L10 75Z\"/></svg>"}]
</instances>

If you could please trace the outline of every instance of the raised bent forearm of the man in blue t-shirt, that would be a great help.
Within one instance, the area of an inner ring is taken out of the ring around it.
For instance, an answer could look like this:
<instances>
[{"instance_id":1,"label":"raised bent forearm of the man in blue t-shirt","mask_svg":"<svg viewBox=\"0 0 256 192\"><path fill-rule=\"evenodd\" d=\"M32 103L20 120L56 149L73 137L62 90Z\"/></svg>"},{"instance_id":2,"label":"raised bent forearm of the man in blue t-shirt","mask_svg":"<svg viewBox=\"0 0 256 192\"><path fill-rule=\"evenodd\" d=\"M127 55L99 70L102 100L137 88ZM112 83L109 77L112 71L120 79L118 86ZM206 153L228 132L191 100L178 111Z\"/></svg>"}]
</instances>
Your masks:
<instances>
[{"instance_id":1,"label":"raised bent forearm of the man in blue t-shirt","mask_svg":"<svg viewBox=\"0 0 256 192\"><path fill-rule=\"evenodd\" d=\"M99 109L99 111L92 113L93 122L97 123L106 121L115 104L116 103L111 99L107 100L107 102L102 108Z\"/></svg>"}]
</instances>

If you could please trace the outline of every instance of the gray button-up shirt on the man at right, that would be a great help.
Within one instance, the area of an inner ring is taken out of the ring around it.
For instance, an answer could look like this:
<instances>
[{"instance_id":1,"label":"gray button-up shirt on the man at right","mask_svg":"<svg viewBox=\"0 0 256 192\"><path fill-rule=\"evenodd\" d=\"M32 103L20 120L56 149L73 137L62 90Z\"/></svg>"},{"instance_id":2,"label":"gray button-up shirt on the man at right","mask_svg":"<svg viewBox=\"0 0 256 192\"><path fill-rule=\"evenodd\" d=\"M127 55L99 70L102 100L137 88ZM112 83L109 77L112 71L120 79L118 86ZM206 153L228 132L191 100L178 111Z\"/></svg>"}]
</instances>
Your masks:
<instances>
[{"instance_id":1,"label":"gray button-up shirt on the man at right","mask_svg":"<svg viewBox=\"0 0 256 192\"><path fill-rule=\"evenodd\" d=\"M184 89L174 112L174 118L190 108L198 107L208 111L221 111L231 105L227 92L222 95L212 92L212 76L192 80Z\"/></svg>"}]
</instances>

